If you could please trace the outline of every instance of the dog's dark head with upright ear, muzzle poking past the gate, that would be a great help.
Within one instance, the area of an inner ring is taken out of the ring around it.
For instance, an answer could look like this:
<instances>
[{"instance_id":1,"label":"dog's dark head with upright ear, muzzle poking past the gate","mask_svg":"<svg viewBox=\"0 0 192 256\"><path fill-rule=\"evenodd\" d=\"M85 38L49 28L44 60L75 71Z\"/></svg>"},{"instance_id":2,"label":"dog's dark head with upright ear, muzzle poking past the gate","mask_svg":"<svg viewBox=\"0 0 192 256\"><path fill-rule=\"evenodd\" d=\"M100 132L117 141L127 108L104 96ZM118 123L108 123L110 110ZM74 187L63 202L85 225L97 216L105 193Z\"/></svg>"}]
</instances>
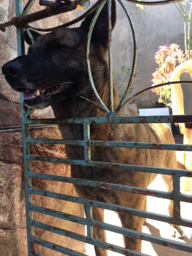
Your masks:
<instances>
[{"instance_id":1,"label":"dog's dark head with upright ear, muzzle poking past the gate","mask_svg":"<svg viewBox=\"0 0 192 256\"><path fill-rule=\"evenodd\" d=\"M112 2L114 28L116 8L115 1ZM28 54L5 63L2 73L14 90L23 92L24 102L28 107L45 108L65 99L90 96L92 89L88 81L85 48L93 15L94 12L87 16L79 28L56 28L44 35L31 30L34 44L27 33L24 34L25 41L29 44ZM105 4L93 29L90 46L92 75L98 80L107 73L107 28ZM96 76L95 73L98 72Z\"/></svg>"}]
</instances>

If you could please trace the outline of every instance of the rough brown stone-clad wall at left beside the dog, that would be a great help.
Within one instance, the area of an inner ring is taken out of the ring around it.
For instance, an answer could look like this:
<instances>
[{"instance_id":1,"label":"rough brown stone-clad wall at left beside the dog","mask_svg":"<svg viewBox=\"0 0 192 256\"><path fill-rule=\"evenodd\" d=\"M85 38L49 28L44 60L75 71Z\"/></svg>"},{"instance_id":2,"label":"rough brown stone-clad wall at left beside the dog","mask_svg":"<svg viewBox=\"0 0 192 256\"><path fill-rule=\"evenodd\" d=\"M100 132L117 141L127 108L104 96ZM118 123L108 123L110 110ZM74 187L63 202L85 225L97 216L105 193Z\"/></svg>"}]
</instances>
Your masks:
<instances>
[{"instance_id":1,"label":"rough brown stone-clad wall at left beside the dog","mask_svg":"<svg viewBox=\"0 0 192 256\"><path fill-rule=\"evenodd\" d=\"M26 3L27 0L24 2ZM38 11L43 8L44 7L39 6L38 1L36 1L32 11ZM14 1L0 0L0 23L10 20L13 16L15 16ZM46 20L37 21L32 25L41 28L50 28L61 25L72 19L74 19L74 12L67 12L47 18ZM16 42L16 28L14 26L6 29L5 33L0 31L0 68L5 62L17 56ZM10 126L20 126L20 115L19 93L14 92L10 88L0 72L0 129L2 130ZM53 117L52 109L47 108L41 111L35 111L33 116ZM57 127L30 129L30 135L31 137L61 139ZM62 145L31 144L31 154L37 156L66 157L65 148ZM65 164L34 161L32 162L32 171L70 176L70 167ZM35 188L77 196L72 184L40 179L33 179L32 181L33 187ZM33 196L33 204L77 216L84 216L83 206L75 203L43 196ZM34 213L34 219L52 226L84 234L84 226L70 221L38 213ZM78 241L74 242L74 240L67 237L37 228L35 228L34 231L35 236L47 239L50 242L79 252L84 252L85 250L85 245ZM0 255L27 256L26 236L21 131L0 132ZM47 256L63 255L41 246L38 246L38 248L36 246L36 252Z\"/></svg>"}]
</instances>

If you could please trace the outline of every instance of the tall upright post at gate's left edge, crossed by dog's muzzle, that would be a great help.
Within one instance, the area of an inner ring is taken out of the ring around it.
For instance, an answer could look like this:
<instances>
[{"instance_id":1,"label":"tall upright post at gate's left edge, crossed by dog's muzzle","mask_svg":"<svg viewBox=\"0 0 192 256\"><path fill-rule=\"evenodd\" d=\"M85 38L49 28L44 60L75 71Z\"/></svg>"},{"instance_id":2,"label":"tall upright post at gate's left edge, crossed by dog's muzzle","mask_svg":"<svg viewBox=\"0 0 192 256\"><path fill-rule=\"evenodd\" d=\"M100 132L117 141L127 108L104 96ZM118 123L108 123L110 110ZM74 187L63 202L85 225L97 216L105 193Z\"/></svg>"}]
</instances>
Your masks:
<instances>
[{"instance_id":1,"label":"tall upright post at gate's left edge, crossed by dog's muzzle","mask_svg":"<svg viewBox=\"0 0 192 256\"><path fill-rule=\"evenodd\" d=\"M15 0L16 16L20 16L23 11L23 1ZM22 36L22 29L17 28L17 51L18 56L25 54L24 39ZM28 188L31 188L31 178L28 178L27 172L30 171L30 160L27 160L27 154L30 154L29 143L26 138L29 137L29 127L25 124L26 111L24 110L23 94L20 93L20 106L21 106L21 126L22 126L22 140L23 140L23 164L25 176L25 205L26 205L26 222L27 222L27 239L28 239L28 256L31 256L30 236L33 235L33 227L30 227L29 220L33 219L33 212L29 210L29 203L32 204L32 194L28 194Z\"/></svg>"}]
</instances>

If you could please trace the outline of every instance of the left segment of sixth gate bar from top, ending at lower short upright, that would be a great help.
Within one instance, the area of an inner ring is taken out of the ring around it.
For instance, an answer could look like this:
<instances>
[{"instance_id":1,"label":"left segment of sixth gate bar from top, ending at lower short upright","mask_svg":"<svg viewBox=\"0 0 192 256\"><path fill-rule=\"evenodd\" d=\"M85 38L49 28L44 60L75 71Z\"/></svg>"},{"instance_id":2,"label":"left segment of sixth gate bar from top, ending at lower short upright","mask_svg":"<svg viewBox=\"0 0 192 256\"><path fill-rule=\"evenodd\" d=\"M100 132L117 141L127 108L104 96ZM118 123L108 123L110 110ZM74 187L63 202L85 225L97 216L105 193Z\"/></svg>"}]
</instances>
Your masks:
<instances>
[{"instance_id":1,"label":"left segment of sixth gate bar from top, ending at lower short upright","mask_svg":"<svg viewBox=\"0 0 192 256\"><path fill-rule=\"evenodd\" d=\"M37 206L37 205L34 205L34 204L29 204L29 208L30 208L31 211L44 213L44 214L47 214L47 215L50 215L50 216L53 216L53 217L60 218L62 220L69 220L69 221L72 221L72 222L76 222L78 224L86 225L85 218L78 217L78 216L75 216L75 215L72 215L72 214L68 214L68 213L65 213L65 212L59 212L59 211L56 211L56 210L48 209L48 208Z\"/></svg>"}]
</instances>

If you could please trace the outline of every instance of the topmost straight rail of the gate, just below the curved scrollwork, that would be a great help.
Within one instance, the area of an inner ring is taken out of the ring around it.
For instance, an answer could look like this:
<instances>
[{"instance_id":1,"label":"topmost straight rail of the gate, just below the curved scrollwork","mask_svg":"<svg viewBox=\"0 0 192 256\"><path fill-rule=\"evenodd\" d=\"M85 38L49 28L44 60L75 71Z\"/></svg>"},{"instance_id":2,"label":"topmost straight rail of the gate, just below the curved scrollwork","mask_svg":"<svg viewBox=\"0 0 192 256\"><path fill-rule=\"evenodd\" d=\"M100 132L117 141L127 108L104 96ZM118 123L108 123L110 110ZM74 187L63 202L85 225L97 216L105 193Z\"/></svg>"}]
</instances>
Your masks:
<instances>
[{"instance_id":1,"label":"topmost straight rail of the gate, just below the curved scrollwork","mask_svg":"<svg viewBox=\"0 0 192 256\"><path fill-rule=\"evenodd\" d=\"M191 115L177 116L114 116L84 118L39 118L25 119L25 124L147 124L147 123L191 123Z\"/></svg>"}]
</instances>

